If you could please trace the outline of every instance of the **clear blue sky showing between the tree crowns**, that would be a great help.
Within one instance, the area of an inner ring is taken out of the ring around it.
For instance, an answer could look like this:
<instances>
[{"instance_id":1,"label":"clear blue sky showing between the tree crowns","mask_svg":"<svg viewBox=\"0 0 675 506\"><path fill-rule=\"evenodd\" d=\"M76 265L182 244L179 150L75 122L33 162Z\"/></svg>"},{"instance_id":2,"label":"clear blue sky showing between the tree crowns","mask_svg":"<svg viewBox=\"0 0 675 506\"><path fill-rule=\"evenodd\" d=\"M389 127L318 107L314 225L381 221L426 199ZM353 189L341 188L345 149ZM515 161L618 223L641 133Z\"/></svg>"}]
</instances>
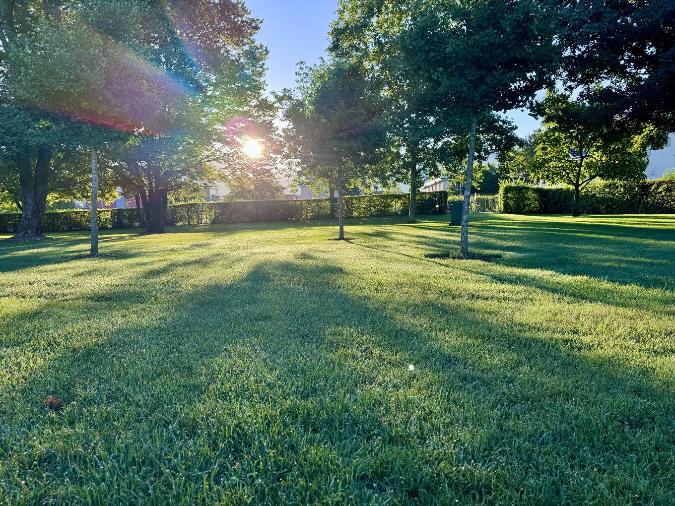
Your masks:
<instances>
[{"instance_id":1,"label":"clear blue sky showing between the tree crowns","mask_svg":"<svg viewBox=\"0 0 675 506\"><path fill-rule=\"evenodd\" d=\"M246 0L246 5L253 16L263 19L258 41L269 47L269 89L291 88L298 61L315 63L325 55L338 0ZM539 126L539 121L521 111L510 111L508 116L518 125L520 136Z\"/></svg>"}]
</instances>

